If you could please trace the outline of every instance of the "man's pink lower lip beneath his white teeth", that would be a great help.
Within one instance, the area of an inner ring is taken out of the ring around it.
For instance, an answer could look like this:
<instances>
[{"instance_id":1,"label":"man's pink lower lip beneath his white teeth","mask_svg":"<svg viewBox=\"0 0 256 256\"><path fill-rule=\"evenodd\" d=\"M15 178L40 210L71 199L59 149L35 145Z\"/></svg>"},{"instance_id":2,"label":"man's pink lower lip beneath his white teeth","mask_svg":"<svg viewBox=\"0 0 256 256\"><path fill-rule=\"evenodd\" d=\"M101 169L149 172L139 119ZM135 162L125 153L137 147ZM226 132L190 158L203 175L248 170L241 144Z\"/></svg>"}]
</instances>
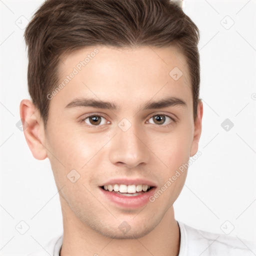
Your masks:
<instances>
[{"instance_id":1,"label":"man's pink lower lip beneath his white teeth","mask_svg":"<svg viewBox=\"0 0 256 256\"><path fill-rule=\"evenodd\" d=\"M99 187L101 193L112 203L122 208L138 208L144 206L149 202L149 197L154 194L156 187L151 188L149 191L139 195L126 196L110 192Z\"/></svg>"}]
</instances>

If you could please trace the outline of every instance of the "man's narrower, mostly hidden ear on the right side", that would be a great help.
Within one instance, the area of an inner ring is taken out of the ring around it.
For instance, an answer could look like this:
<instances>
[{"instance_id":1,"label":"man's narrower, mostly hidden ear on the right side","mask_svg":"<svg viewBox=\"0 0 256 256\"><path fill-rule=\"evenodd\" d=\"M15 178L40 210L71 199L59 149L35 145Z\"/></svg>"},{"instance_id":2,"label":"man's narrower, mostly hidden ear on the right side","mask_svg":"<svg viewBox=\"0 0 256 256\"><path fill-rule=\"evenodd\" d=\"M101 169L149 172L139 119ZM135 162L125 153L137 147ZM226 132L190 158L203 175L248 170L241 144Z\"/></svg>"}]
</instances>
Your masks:
<instances>
[{"instance_id":1,"label":"man's narrower, mostly hidden ear on the right side","mask_svg":"<svg viewBox=\"0 0 256 256\"><path fill-rule=\"evenodd\" d=\"M199 138L202 130L202 112L203 112L202 101L201 99L199 99L197 104L197 117L194 122L194 135L193 135L193 141L190 148L190 156L193 156L198 150L198 142L199 142Z\"/></svg>"}]
</instances>

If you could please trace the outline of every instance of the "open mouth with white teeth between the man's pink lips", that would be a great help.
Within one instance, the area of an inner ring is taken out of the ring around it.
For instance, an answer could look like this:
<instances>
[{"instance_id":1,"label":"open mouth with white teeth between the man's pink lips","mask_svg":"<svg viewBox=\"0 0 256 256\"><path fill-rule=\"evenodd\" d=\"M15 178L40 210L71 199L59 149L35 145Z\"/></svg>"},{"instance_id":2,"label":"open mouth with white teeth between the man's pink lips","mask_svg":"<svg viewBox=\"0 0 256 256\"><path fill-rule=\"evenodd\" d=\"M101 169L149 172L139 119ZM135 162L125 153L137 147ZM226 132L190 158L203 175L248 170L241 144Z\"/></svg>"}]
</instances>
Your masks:
<instances>
[{"instance_id":1,"label":"open mouth with white teeth between the man's pink lips","mask_svg":"<svg viewBox=\"0 0 256 256\"><path fill-rule=\"evenodd\" d=\"M152 189L154 186L149 186L146 184L108 184L100 186L100 188L112 192L117 193L125 196L136 196L140 195L142 193L148 192L150 189Z\"/></svg>"}]
</instances>

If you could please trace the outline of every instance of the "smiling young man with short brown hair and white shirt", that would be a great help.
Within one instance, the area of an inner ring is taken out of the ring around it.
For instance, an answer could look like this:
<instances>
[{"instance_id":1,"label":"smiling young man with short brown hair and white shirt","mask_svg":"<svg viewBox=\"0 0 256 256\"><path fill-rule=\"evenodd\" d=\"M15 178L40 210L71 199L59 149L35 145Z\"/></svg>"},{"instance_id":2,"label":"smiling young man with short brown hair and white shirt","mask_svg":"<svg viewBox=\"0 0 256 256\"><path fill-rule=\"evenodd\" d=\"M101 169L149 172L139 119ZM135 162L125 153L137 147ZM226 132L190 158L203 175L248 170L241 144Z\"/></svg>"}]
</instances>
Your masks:
<instances>
[{"instance_id":1,"label":"smiling young man with short brown hair and white shirt","mask_svg":"<svg viewBox=\"0 0 256 256\"><path fill-rule=\"evenodd\" d=\"M37 10L20 117L33 156L50 160L63 235L30 255L256 251L174 218L201 134L198 39L168 0L47 0Z\"/></svg>"}]
</instances>

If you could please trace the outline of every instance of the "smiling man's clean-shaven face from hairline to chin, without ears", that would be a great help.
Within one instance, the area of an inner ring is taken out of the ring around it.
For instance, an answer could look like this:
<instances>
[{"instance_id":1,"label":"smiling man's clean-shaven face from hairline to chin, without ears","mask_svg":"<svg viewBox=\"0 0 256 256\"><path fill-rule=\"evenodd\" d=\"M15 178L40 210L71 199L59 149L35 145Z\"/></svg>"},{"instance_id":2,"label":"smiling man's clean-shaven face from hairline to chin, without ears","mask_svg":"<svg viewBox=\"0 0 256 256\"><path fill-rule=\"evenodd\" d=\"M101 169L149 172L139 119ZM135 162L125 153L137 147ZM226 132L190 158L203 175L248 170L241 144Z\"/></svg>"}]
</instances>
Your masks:
<instances>
[{"instance_id":1,"label":"smiling man's clean-shaven face from hairline to chin, without ears","mask_svg":"<svg viewBox=\"0 0 256 256\"><path fill-rule=\"evenodd\" d=\"M98 46L62 61L45 130L62 213L108 237L141 237L172 207L187 170L172 176L197 151L184 56Z\"/></svg>"}]
</instances>

